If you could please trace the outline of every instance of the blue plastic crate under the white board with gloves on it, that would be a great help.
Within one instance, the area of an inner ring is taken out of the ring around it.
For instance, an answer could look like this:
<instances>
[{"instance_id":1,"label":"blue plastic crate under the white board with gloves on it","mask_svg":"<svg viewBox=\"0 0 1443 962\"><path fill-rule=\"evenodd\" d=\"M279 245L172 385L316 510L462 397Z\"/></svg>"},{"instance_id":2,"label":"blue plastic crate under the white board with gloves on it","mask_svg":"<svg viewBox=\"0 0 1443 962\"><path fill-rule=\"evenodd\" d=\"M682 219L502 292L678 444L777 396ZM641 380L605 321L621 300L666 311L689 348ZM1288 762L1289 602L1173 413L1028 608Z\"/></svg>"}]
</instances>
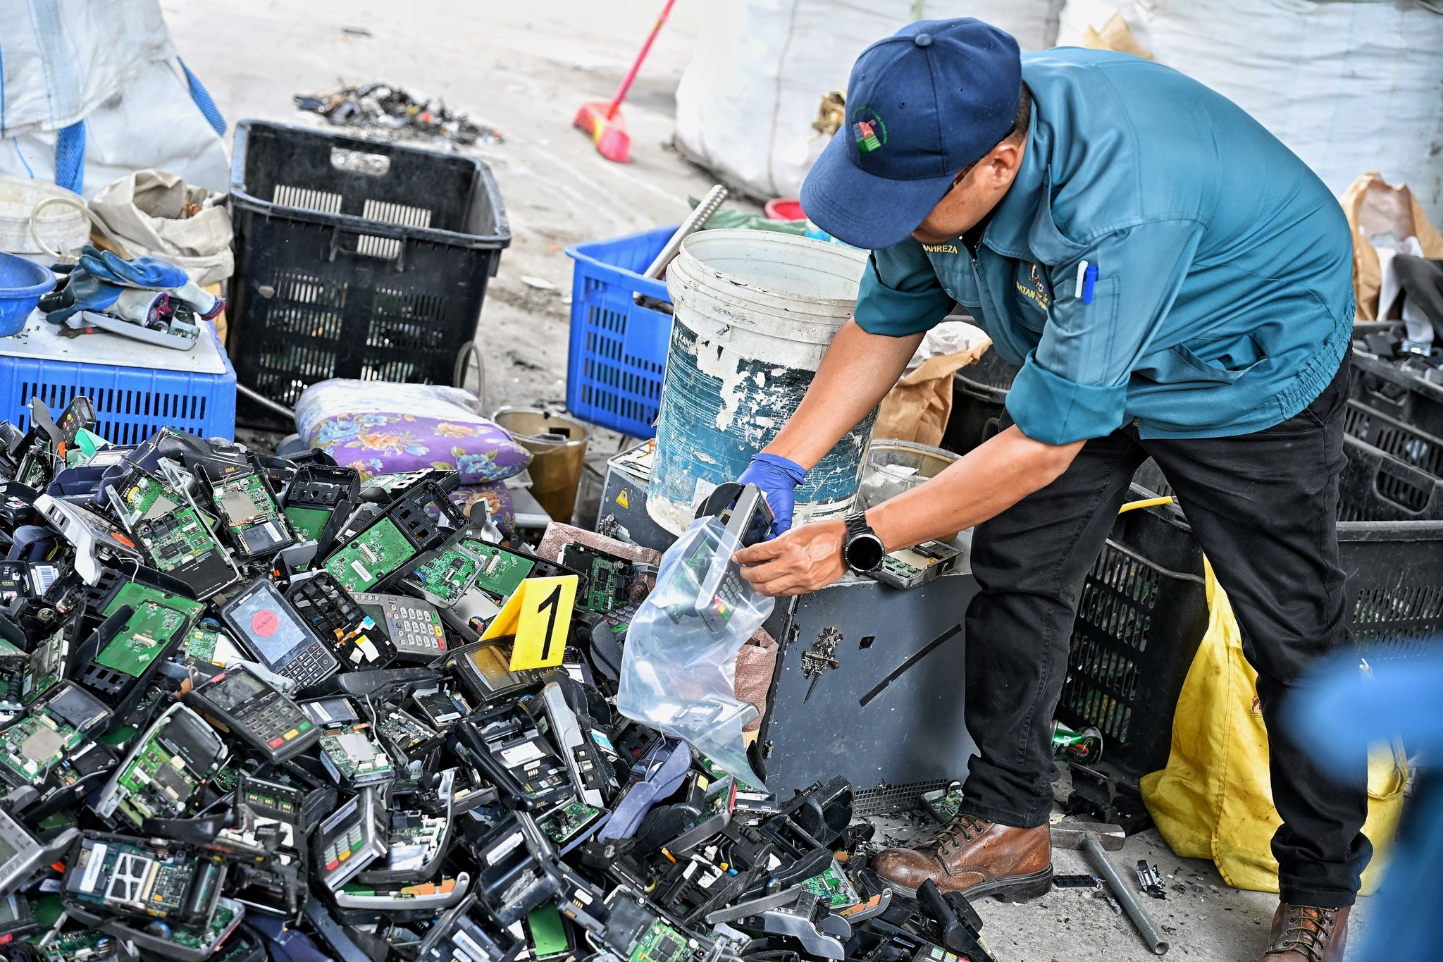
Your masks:
<instances>
[{"instance_id":1,"label":"blue plastic crate under the white board with gloves on it","mask_svg":"<svg viewBox=\"0 0 1443 962\"><path fill-rule=\"evenodd\" d=\"M163 348L156 352L169 353ZM0 356L0 420L27 430L30 398L40 398L58 414L84 394L95 405L95 433L111 444L137 444L163 427L234 438L235 368L225 350L219 355L225 374Z\"/></svg>"}]
</instances>

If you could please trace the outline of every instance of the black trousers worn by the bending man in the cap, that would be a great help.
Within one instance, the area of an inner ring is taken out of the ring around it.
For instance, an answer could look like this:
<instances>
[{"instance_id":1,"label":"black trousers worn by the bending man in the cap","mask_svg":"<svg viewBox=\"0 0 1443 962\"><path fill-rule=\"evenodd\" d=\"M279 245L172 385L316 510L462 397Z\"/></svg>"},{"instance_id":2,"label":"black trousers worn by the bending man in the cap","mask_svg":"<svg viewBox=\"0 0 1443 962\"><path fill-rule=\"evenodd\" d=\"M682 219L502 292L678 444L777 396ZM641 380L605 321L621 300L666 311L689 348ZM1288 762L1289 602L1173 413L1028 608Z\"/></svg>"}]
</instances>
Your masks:
<instances>
[{"instance_id":1,"label":"black trousers worn by the bending man in the cap","mask_svg":"<svg viewBox=\"0 0 1443 962\"><path fill-rule=\"evenodd\" d=\"M1133 427L1088 441L1052 485L973 539L981 591L967 612L964 811L1045 825L1055 776L1051 723L1068 669L1078 588L1097 561L1133 472L1149 456L1177 495L1232 601L1268 730L1273 837L1284 901L1348 906L1372 848L1367 759L1356 777L1323 775L1283 734L1280 707L1320 655L1349 645L1338 567L1338 477L1349 363L1296 417L1237 437L1140 440Z\"/></svg>"}]
</instances>

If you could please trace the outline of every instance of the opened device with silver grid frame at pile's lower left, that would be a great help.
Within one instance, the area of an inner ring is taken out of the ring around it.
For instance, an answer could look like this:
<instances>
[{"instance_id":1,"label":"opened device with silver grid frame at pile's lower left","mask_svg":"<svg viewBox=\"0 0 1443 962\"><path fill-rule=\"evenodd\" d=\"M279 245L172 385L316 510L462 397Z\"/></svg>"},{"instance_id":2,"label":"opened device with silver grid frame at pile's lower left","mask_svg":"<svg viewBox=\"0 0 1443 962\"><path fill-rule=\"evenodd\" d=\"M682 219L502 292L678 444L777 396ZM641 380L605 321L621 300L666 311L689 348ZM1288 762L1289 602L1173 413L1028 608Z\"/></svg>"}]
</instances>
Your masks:
<instances>
[{"instance_id":1,"label":"opened device with silver grid frame at pile's lower left","mask_svg":"<svg viewBox=\"0 0 1443 962\"><path fill-rule=\"evenodd\" d=\"M75 865L65 877L65 891L79 901L110 910L166 919L180 912L196 862L179 851L160 852L114 838L85 838Z\"/></svg>"}]
</instances>

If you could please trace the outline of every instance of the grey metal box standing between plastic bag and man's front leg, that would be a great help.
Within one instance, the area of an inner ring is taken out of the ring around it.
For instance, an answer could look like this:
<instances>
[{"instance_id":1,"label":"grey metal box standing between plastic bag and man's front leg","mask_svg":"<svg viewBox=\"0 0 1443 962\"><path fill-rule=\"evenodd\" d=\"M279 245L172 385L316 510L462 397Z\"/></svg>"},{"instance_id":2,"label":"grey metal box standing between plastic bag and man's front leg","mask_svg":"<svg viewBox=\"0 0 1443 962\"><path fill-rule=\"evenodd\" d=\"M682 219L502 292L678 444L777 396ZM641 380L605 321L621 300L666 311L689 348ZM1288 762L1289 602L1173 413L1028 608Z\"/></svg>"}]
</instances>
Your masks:
<instances>
[{"instance_id":1,"label":"grey metal box standing between plastic bag and man's front leg","mask_svg":"<svg viewBox=\"0 0 1443 962\"><path fill-rule=\"evenodd\" d=\"M769 627L781 653L759 733L766 786L789 798L844 775L869 813L965 777L975 746L962 720L964 617L974 594L970 565L960 565L911 591L847 577L779 604Z\"/></svg>"}]
</instances>

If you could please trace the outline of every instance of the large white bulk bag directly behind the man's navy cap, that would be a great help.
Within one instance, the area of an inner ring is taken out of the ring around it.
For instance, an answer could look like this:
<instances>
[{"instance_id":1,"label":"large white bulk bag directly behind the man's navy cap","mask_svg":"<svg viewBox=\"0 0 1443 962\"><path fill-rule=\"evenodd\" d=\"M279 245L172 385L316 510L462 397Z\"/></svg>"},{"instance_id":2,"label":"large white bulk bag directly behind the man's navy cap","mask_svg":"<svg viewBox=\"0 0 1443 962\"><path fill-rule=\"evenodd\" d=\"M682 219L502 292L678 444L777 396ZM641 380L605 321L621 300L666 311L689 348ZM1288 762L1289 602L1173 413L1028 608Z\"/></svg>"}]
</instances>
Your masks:
<instances>
[{"instance_id":1,"label":"large white bulk bag directly behind the man's navy cap","mask_svg":"<svg viewBox=\"0 0 1443 962\"><path fill-rule=\"evenodd\" d=\"M746 0L707 6L677 87L677 147L724 183L794 198L828 136L812 127L870 43L913 20L978 17L1023 49L1049 40L1052 0Z\"/></svg>"}]
</instances>

